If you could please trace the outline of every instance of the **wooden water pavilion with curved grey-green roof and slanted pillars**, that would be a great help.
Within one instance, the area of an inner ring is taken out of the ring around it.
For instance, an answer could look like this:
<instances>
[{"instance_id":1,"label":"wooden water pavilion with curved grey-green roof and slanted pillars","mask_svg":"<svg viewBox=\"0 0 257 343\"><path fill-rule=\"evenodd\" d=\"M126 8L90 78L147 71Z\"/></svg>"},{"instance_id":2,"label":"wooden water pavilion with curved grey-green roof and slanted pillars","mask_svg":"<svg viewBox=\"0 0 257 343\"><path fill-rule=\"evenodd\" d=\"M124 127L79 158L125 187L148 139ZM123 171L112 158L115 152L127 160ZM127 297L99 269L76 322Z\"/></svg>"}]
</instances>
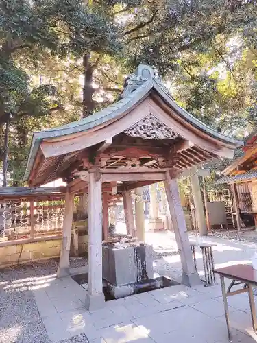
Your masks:
<instances>
[{"instance_id":1,"label":"wooden water pavilion with curved grey-green roof and slanted pillars","mask_svg":"<svg viewBox=\"0 0 257 343\"><path fill-rule=\"evenodd\" d=\"M131 190L164 181L182 282L199 283L176 178L210 158L232 158L239 145L241 141L225 137L178 106L154 69L143 64L127 78L119 101L85 119L35 132L25 180L29 186L57 178L67 182L58 276L69 271L73 198L89 193L86 305L101 307L102 226L106 237L108 202L113 193L123 196L127 231L136 236L140 228L134 227Z\"/></svg>"}]
</instances>

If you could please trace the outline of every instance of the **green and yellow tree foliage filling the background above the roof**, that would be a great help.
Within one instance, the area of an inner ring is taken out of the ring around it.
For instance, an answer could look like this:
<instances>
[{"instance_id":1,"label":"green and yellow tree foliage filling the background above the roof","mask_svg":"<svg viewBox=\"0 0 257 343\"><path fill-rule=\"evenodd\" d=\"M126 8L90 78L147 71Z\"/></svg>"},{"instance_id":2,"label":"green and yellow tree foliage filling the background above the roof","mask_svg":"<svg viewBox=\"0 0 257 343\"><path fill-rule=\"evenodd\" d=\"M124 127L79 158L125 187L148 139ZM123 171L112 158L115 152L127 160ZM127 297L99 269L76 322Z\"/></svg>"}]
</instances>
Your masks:
<instances>
[{"instance_id":1,"label":"green and yellow tree foliage filling the background above the roof","mask_svg":"<svg viewBox=\"0 0 257 343\"><path fill-rule=\"evenodd\" d=\"M35 130L108 106L140 62L220 132L256 126L256 1L3 0L0 10L0 151L10 112L15 184Z\"/></svg>"}]
</instances>

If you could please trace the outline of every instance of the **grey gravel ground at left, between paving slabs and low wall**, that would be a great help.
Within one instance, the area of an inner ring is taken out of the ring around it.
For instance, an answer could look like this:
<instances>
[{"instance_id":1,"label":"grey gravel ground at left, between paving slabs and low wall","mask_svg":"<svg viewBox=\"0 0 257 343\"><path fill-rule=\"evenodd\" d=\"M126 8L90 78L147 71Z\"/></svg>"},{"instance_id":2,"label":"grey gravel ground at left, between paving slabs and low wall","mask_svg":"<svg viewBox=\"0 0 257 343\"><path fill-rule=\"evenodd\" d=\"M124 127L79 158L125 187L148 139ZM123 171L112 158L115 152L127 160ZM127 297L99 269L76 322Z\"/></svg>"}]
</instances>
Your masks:
<instances>
[{"instance_id":1,"label":"grey gravel ground at left, between paving slabs and low wall","mask_svg":"<svg viewBox=\"0 0 257 343\"><path fill-rule=\"evenodd\" d=\"M86 265L86 259L71 261L71 267ZM58 261L6 268L0 273L0 343L51 343L39 316L31 289L36 278L55 274ZM88 343L77 335L62 343Z\"/></svg>"}]
</instances>

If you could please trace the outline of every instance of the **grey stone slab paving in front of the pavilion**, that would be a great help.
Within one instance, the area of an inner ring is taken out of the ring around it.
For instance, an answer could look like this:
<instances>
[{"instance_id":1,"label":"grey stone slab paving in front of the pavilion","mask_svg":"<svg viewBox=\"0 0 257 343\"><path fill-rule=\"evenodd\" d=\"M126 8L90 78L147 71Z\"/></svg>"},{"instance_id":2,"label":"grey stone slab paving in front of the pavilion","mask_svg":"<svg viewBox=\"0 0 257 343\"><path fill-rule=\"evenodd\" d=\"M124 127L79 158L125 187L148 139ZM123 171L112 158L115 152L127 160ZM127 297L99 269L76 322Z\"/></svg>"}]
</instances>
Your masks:
<instances>
[{"instance_id":1,"label":"grey stone slab paving in front of the pavilion","mask_svg":"<svg viewBox=\"0 0 257 343\"><path fill-rule=\"evenodd\" d=\"M34 297L53 342L84 333L90 343L228 342L219 285L183 285L111 300L84 309L85 290L70 277L52 279ZM257 342L246 294L229 299L233 342Z\"/></svg>"}]
</instances>

